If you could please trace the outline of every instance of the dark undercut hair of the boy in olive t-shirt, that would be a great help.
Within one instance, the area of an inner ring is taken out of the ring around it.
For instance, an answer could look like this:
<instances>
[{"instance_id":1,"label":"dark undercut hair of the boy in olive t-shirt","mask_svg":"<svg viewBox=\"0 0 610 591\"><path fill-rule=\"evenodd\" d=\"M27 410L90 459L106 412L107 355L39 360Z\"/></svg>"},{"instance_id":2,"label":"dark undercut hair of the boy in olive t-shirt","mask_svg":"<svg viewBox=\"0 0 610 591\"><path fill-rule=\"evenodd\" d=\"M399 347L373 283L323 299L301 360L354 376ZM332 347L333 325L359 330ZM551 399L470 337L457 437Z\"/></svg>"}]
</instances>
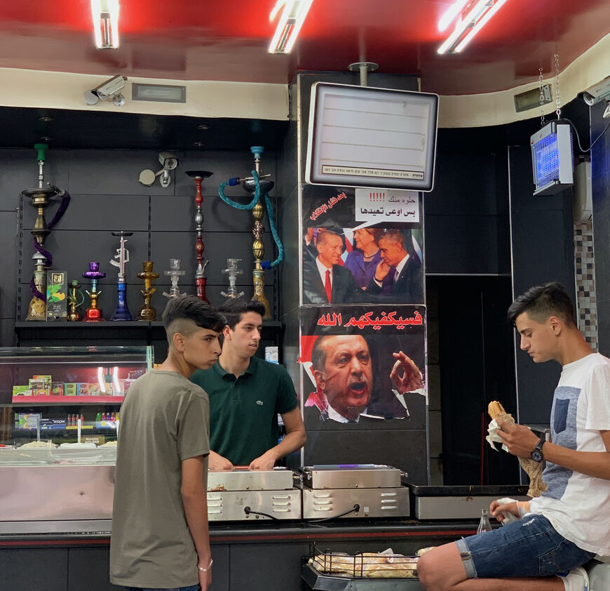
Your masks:
<instances>
[{"instance_id":1,"label":"dark undercut hair of the boy in olive t-shirt","mask_svg":"<svg viewBox=\"0 0 610 591\"><path fill-rule=\"evenodd\" d=\"M170 345L176 333L191 336L200 328L219 333L225 324L224 316L215 307L206 304L195 295L170 298L161 319Z\"/></svg>"}]
</instances>

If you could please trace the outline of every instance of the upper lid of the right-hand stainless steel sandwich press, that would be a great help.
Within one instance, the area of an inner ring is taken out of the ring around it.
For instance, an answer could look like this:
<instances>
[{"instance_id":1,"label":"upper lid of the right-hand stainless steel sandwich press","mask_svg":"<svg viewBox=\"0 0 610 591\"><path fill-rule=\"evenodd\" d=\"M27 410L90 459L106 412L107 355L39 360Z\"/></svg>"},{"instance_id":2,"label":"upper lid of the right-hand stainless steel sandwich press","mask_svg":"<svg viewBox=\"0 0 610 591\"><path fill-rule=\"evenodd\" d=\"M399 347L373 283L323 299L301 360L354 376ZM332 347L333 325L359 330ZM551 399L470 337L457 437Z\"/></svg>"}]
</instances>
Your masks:
<instances>
[{"instance_id":1,"label":"upper lid of the right-hand stainless steel sandwich press","mask_svg":"<svg viewBox=\"0 0 610 591\"><path fill-rule=\"evenodd\" d=\"M398 468L381 464L313 465L301 468L310 489L387 489L400 487Z\"/></svg>"}]
</instances>

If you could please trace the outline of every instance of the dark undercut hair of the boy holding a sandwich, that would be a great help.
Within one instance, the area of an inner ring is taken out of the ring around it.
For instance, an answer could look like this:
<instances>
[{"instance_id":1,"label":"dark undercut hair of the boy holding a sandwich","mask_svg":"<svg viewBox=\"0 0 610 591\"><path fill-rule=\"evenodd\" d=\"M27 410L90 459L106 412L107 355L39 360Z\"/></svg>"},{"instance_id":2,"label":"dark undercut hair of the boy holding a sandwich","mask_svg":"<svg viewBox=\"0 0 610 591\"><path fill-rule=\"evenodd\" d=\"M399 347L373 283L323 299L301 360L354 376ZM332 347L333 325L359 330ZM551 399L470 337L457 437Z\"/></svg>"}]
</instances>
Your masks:
<instances>
[{"instance_id":1,"label":"dark undercut hair of the boy holding a sandwich","mask_svg":"<svg viewBox=\"0 0 610 591\"><path fill-rule=\"evenodd\" d=\"M527 315L544 324L551 316L562 319L567 326L576 326L574 305L562 284L557 281L535 285L522 293L508 308L507 319L515 324L517 316L527 312Z\"/></svg>"}]
</instances>

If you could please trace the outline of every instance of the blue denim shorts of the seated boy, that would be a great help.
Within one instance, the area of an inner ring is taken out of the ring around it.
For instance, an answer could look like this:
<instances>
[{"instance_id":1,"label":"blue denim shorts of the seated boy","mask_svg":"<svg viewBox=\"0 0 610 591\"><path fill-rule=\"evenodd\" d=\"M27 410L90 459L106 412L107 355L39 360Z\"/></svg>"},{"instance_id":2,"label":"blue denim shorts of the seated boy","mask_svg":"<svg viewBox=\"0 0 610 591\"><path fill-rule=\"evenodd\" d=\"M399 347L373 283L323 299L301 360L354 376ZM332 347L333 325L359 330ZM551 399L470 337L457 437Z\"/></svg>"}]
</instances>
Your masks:
<instances>
[{"instance_id":1,"label":"blue denim shorts of the seated boy","mask_svg":"<svg viewBox=\"0 0 610 591\"><path fill-rule=\"evenodd\" d=\"M468 578L552 576L582 566L595 556L560 536L538 514L461 538L456 545Z\"/></svg>"}]
</instances>

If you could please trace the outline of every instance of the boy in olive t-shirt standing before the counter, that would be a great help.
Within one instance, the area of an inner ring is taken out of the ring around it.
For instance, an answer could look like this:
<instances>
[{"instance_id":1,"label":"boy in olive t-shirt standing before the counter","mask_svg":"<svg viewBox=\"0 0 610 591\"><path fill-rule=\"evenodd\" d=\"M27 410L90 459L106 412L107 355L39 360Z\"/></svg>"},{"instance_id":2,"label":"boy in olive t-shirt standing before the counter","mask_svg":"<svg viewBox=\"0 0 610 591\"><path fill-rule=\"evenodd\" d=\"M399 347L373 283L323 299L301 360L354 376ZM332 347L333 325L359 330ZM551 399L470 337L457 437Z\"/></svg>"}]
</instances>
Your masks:
<instances>
[{"instance_id":1,"label":"boy in olive t-shirt standing before the counter","mask_svg":"<svg viewBox=\"0 0 610 591\"><path fill-rule=\"evenodd\" d=\"M163 312L168 358L121 407L110 582L130 590L208 589L208 397L189 381L216 363L222 314L194 295Z\"/></svg>"}]
</instances>

